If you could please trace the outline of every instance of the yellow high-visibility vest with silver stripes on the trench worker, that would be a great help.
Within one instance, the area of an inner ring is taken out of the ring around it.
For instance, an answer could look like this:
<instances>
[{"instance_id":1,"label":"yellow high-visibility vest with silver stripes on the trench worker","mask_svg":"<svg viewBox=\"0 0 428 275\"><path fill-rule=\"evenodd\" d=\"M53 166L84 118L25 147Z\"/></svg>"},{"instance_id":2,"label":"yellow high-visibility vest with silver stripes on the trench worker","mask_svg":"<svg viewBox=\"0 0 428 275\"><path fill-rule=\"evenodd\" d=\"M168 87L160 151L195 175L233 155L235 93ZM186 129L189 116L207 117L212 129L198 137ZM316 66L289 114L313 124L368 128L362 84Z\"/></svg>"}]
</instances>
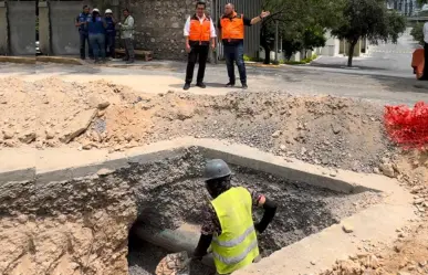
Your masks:
<instances>
[{"instance_id":1,"label":"yellow high-visibility vest with silver stripes on the trench worker","mask_svg":"<svg viewBox=\"0 0 428 275\"><path fill-rule=\"evenodd\" d=\"M221 234L211 242L216 268L219 274L232 273L259 255L251 194L246 188L231 188L211 203L221 225Z\"/></svg>"}]
</instances>

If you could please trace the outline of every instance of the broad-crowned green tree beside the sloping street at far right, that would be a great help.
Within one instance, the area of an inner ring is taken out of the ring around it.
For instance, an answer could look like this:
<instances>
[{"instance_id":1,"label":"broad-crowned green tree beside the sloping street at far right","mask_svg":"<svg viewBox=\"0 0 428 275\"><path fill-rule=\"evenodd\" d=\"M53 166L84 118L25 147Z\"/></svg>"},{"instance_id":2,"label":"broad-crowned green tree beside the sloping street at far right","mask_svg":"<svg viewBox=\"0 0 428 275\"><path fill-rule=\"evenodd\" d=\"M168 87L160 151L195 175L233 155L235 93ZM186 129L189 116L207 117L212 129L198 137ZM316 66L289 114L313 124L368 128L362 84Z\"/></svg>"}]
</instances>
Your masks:
<instances>
[{"instance_id":1,"label":"broad-crowned green tree beside the sloping street at far right","mask_svg":"<svg viewBox=\"0 0 428 275\"><path fill-rule=\"evenodd\" d=\"M392 40L406 30L406 20L395 11L388 11L385 0L346 0L342 18L332 34L349 44L347 65L352 66L354 49L358 40L367 38L372 43Z\"/></svg>"}]
</instances>

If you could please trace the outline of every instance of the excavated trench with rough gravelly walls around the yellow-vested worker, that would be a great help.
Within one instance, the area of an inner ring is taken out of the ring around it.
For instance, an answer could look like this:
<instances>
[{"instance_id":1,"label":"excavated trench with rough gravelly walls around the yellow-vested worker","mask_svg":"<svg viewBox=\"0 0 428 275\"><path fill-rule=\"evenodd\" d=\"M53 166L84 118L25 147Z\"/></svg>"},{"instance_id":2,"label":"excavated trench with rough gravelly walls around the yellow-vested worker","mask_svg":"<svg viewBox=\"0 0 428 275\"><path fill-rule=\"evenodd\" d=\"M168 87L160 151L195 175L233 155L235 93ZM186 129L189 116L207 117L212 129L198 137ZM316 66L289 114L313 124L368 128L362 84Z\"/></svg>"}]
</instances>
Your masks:
<instances>
[{"instance_id":1,"label":"excavated trench with rough gravelly walls around the yellow-vested worker","mask_svg":"<svg viewBox=\"0 0 428 275\"><path fill-rule=\"evenodd\" d=\"M73 266L61 269L72 275L154 274L157 263L174 251L140 240L135 229L144 224L154 230L155 235L156 231L200 225L202 209L209 203L200 178L205 161L200 150L191 147L163 160L135 162L97 176L39 184L36 195L31 183L13 186L15 190L10 191L14 198L0 203L0 210L12 209L28 218L25 228L20 221L11 223L14 228L10 239L15 246L18 239L14 236L22 233L22 252L9 260L13 264L8 268L30 268L22 255L28 255L30 262L35 255L43 261L36 260L32 265L34 269L27 274L51 274L61 266ZM259 236L262 256L380 200L378 193L370 191L345 194L244 167L231 165L231 169L234 186L264 193L278 203L275 219ZM19 195L15 195L18 189ZM255 211L254 220L260 220L261 214ZM8 229L12 228L8 225ZM198 240L198 230L192 228L191 232L189 250ZM32 244L32 250L28 248L28 243ZM0 273L8 274L4 271ZM195 263L191 274L213 274L213 268Z\"/></svg>"}]
</instances>

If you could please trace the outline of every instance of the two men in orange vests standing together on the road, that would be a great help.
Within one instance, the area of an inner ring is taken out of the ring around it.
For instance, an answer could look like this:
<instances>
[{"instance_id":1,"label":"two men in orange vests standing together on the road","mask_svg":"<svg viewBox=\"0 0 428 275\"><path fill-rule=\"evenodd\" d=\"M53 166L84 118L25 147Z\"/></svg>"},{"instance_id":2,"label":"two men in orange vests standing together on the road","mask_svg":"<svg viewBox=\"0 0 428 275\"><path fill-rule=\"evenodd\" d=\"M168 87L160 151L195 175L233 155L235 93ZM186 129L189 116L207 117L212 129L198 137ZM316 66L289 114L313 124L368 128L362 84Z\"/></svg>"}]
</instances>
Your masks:
<instances>
[{"instance_id":1,"label":"two men in orange vests standing together on the road","mask_svg":"<svg viewBox=\"0 0 428 275\"><path fill-rule=\"evenodd\" d=\"M186 51L189 54L186 70L186 83L182 87L185 91L190 88L194 78L195 64L198 59L199 70L196 86L201 88L206 87L203 84L203 76L209 47L216 47L216 29L212 20L206 14L205 10L206 2L198 1L195 15L189 17L185 24L184 33L186 38ZM257 24L269 14L269 11L263 11L259 17L250 19L243 14L238 14L234 11L233 4L228 3L225 6L225 14L219 19L217 27L223 44L226 65L228 68L229 82L226 84L227 87L233 87L236 85L234 63L237 63L242 88L248 88L246 64L243 62L244 27Z\"/></svg>"}]
</instances>

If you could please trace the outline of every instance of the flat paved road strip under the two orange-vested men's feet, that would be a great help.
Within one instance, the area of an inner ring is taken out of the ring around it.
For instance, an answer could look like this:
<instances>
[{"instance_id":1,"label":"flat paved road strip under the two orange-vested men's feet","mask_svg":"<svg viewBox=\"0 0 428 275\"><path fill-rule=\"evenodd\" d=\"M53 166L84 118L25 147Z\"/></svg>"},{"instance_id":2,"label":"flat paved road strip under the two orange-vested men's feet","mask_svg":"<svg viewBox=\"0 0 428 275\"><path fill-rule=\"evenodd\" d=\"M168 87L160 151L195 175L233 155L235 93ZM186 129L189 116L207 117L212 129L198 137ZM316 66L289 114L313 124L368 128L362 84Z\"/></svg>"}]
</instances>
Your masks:
<instances>
[{"instance_id":1,"label":"flat paved road strip under the two orange-vested men's feet","mask_svg":"<svg viewBox=\"0 0 428 275\"><path fill-rule=\"evenodd\" d=\"M149 91L156 84L163 92L182 91L186 64L182 62L138 62L133 66L116 67L94 65L19 65L0 63L0 76L40 75L72 76L74 78L103 77L115 80L129 77L133 87ZM393 72L394 73L394 72ZM408 104L428 102L428 82L418 82L414 76L397 76L393 73L343 70L313 66L248 66L248 84L251 92L285 92L294 95L335 95L379 102L382 104ZM195 72L196 74L196 72ZM155 77L156 76L156 77ZM134 81L135 80L135 81ZM225 89L228 81L226 65L209 65L206 73L207 89L191 88L189 92L220 94L240 89ZM157 82L157 83L154 83ZM157 89L157 91L159 91Z\"/></svg>"}]
</instances>

